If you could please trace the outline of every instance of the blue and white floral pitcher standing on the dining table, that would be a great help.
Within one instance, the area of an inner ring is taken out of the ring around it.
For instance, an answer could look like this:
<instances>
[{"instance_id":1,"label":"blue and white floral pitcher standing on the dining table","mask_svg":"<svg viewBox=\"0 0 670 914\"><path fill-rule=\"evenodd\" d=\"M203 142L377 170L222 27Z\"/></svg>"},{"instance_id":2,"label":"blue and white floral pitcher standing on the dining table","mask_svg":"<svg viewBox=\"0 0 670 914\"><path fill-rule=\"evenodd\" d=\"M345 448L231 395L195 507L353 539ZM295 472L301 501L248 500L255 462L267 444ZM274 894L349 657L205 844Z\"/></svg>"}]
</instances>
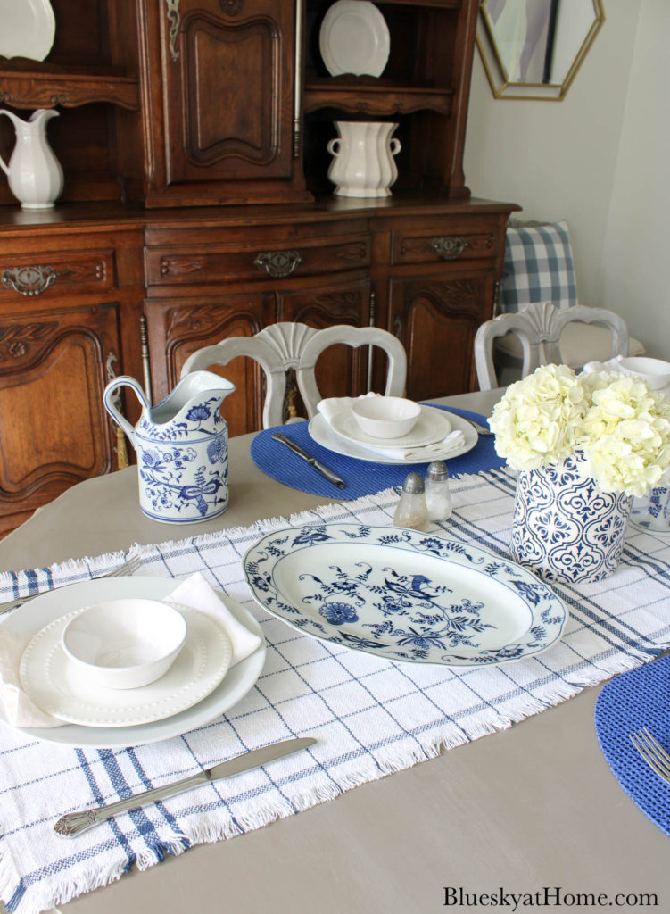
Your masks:
<instances>
[{"instance_id":1,"label":"blue and white floral pitcher standing on the dining table","mask_svg":"<svg viewBox=\"0 0 670 914\"><path fill-rule=\"evenodd\" d=\"M132 388L142 404L134 427L114 405L117 388ZM162 403L150 407L130 375L105 388L105 409L137 452L140 507L147 517L170 524L211 520L228 507L228 423L219 407L235 389L211 371L192 371Z\"/></svg>"}]
</instances>

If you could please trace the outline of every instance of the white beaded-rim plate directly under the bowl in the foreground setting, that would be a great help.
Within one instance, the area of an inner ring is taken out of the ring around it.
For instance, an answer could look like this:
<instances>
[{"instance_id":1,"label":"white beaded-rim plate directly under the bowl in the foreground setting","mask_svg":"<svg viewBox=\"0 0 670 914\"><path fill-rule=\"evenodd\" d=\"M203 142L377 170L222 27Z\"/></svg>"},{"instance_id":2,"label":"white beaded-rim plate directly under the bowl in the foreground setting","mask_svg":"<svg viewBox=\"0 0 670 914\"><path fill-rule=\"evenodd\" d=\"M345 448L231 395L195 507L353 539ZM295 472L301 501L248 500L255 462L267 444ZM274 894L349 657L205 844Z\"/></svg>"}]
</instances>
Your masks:
<instances>
[{"instance_id":1,"label":"white beaded-rim plate directly under the bowl in the foreground setting","mask_svg":"<svg viewBox=\"0 0 670 914\"><path fill-rule=\"evenodd\" d=\"M63 629L82 610L60 616L31 639L19 675L27 696L52 717L82 727L136 727L173 717L209 695L228 672L232 646L211 616L180 608L186 642L164 676L138 688L91 684L62 645Z\"/></svg>"}]
</instances>

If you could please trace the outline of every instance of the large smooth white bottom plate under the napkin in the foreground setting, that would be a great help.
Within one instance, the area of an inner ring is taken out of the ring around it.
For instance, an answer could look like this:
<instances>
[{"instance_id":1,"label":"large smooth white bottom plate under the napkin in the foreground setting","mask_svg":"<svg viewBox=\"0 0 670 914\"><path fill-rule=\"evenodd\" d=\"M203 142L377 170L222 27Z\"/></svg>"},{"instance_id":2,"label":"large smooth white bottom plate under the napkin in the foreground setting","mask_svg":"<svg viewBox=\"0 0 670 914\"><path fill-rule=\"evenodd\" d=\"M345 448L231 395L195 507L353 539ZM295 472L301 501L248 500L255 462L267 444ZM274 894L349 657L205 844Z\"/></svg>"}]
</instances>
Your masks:
<instances>
[{"instance_id":1,"label":"large smooth white bottom plate under the napkin in the foreground setting","mask_svg":"<svg viewBox=\"0 0 670 914\"><path fill-rule=\"evenodd\" d=\"M19 607L0 623L29 637L36 635L49 622L103 600L121 600L126 597L146 597L164 600L175 590L177 581L171 578L101 578L80 581L68 587L51 590ZM31 739L44 739L64 746L92 746L97 749L122 749L140 746L181 736L189 730L204 727L238 704L255 685L265 664L266 644L261 626L250 611L237 600L226 597L226 606L238 622L250 632L259 635L261 644L253 654L231 666L222 681L196 705L172 717L164 717L147 724L125 727L89 727L80 724L63 724L61 727L16 728Z\"/></svg>"}]
</instances>

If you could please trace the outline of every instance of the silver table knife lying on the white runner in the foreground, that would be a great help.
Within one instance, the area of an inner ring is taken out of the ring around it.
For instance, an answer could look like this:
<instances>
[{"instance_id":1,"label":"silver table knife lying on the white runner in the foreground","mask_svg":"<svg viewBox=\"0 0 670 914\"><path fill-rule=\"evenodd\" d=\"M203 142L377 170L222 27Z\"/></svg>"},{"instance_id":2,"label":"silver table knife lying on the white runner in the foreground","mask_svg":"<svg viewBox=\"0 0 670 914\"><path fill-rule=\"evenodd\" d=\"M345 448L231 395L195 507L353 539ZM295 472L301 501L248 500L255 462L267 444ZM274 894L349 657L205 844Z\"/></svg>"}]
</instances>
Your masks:
<instances>
[{"instance_id":1,"label":"silver table knife lying on the white runner in the foreground","mask_svg":"<svg viewBox=\"0 0 670 914\"><path fill-rule=\"evenodd\" d=\"M254 749L252 752L238 755L229 761L222 761L220 765L215 765L214 768L198 771L197 774L191 775L190 778L183 778L181 781L165 784L165 787L156 787L153 791L135 793L132 797L111 802L107 806L96 806L93 809L81 810L80 813L67 813L58 819L58 822L54 825L54 831L67 837L73 834L80 834L87 828L104 822L105 819L109 819L117 813L125 813L129 809L137 809L147 802L165 800L166 797L174 796L175 793L189 791L192 787L197 787L198 784L205 784L207 781L230 778L233 774L240 774L242 771L258 768L259 765L265 765L269 761L281 759L284 755L291 755L292 752L307 749L308 746L314 746L315 742L314 737L299 737L297 739L284 739L279 743L271 743L270 746L263 746L261 749Z\"/></svg>"}]
</instances>

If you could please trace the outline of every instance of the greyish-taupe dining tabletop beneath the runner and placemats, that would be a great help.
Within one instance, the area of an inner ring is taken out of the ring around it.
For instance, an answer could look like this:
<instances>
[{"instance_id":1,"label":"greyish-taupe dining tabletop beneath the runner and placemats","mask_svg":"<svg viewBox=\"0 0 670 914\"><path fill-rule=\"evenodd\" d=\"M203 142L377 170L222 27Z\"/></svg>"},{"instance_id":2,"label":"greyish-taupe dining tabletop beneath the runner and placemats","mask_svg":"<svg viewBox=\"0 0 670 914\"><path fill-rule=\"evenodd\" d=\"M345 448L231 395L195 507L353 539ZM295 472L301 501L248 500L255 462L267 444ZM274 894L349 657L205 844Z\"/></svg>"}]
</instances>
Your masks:
<instances>
[{"instance_id":1,"label":"greyish-taupe dining tabletop beneath the runner and placemats","mask_svg":"<svg viewBox=\"0 0 670 914\"><path fill-rule=\"evenodd\" d=\"M431 402L487 417L502 393ZM0 570L18 575L156 543L168 544L165 554L173 541L207 541L267 518L278 527L296 516L302 523L314 515L316 522L324 516L318 512L336 509L342 497L336 490L327 498L264 473L251 459L254 439L252 433L229 442L223 515L184 526L149 519L139 507L137 468L130 466L76 484L38 509L0 541ZM468 487L452 482L458 515ZM448 521L440 535L450 536ZM666 611L670 622L670 600ZM655 644L629 665L653 666L663 647ZM512 664L501 669L505 665ZM622 789L594 728L601 690L616 675L603 666L601 681L575 680L552 701L502 715L495 726L471 731L451 746L442 740L431 757L419 753L396 771L324 795L324 802L305 803L297 814L241 827L241 834L221 839L204 832L186 853L129 866L52 909L428 914L479 907L633 910L654 906L655 899L657 909L669 910L668 836ZM0 771L2 766L0 758ZM670 807L670 787L665 790ZM0 801L0 817L2 808ZM0 887L11 885L4 831L0 819ZM4 901L10 914L28 910L16 899Z\"/></svg>"}]
</instances>

